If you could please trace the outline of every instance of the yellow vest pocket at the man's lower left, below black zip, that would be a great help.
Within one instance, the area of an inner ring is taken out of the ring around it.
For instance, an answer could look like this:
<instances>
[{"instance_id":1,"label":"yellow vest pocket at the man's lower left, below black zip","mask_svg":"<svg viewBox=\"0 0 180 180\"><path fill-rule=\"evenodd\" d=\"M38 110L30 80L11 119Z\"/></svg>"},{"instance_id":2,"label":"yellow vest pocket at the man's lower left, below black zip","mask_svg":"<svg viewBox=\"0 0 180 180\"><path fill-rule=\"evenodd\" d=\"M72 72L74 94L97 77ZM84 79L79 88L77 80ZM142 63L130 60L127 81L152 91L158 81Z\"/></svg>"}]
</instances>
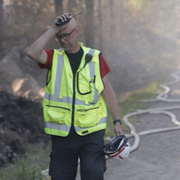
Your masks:
<instances>
[{"instance_id":1,"label":"yellow vest pocket at the man's lower left, below black zip","mask_svg":"<svg viewBox=\"0 0 180 180\"><path fill-rule=\"evenodd\" d=\"M49 106L47 109L47 121L52 123L66 124L69 111L70 109L58 106Z\"/></svg>"}]
</instances>

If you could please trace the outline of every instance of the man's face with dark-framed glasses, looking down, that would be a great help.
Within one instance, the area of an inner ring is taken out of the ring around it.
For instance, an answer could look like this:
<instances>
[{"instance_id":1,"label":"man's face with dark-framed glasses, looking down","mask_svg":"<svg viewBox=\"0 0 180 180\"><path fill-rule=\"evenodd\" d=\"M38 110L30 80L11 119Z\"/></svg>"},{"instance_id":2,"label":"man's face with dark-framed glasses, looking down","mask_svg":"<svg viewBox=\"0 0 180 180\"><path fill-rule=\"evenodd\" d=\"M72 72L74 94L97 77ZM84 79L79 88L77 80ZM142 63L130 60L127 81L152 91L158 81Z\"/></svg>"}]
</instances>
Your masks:
<instances>
[{"instance_id":1,"label":"man's face with dark-framed glasses, looking down","mask_svg":"<svg viewBox=\"0 0 180 180\"><path fill-rule=\"evenodd\" d=\"M65 51L69 52L73 50L75 42L77 40L77 28L68 28L56 34L60 45Z\"/></svg>"}]
</instances>

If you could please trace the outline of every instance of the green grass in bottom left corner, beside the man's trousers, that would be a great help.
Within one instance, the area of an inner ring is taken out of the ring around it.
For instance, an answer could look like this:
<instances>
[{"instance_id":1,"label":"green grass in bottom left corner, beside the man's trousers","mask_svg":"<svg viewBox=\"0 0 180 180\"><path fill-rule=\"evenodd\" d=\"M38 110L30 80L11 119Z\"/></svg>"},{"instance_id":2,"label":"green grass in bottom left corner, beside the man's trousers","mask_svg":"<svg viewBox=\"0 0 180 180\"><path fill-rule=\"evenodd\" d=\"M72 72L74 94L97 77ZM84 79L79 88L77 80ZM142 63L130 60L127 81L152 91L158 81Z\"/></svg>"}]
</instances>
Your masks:
<instances>
[{"instance_id":1,"label":"green grass in bottom left corner, beside the man's trousers","mask_svg":"<svg viewBox=\"0 0 180 180\"><path fill-rule=\"evenodd\" d=\"M0 170L1 180L40 180L41 171L49 164L50 146L36 145L28 148L26 157L19 157L13 165Z\"/></svg>"}]
</instances>

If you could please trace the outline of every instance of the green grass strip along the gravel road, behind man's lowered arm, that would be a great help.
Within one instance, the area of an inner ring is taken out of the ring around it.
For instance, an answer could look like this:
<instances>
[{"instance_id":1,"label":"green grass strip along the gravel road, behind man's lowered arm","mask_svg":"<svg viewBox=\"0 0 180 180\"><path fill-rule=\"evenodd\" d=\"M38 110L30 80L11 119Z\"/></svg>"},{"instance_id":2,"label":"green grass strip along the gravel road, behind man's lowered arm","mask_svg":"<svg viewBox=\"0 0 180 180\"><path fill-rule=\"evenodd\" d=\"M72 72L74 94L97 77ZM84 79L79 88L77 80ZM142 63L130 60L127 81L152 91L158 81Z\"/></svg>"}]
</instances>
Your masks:
<instances>
[{"instance_id":1,"label":"green grass strip along the gravel road, behind man's lowered arm","mask_svg":"<svg viewBox=\"0 0 180 180\"><path fill-rule=\"evenodd\" d=\"M120 118L131 112L135 112L137 109L146 108L145 103L141 102L144 99L152 98L153 94L159 93L159 84L157 82L151 83L147 87L140 89L133 93L127 93L125 96L121 97L118 101L119 115ZM154 98L154 97L153 97ZM122 128L125 129L126 125L122 123ZM113 136L114 134L114 124L110 113L108 112L107 117L107 128L105 137Z\"/></svg>"}]
</instances>

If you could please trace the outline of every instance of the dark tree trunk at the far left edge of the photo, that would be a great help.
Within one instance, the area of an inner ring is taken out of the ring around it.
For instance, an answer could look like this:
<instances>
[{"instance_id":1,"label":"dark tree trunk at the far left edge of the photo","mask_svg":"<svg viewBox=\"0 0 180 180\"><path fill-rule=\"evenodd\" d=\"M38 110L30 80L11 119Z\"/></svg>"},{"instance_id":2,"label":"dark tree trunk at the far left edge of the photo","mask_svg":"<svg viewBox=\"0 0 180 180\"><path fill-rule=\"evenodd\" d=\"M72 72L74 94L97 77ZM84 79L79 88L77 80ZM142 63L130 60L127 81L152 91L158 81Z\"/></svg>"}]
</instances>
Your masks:
<instances>
[{"instance_id":1,"label":"dark tree trunk at the far left edge of the photo","mask_svg":"<svg viewBox=\"0 0 180 180\"><path fill-rule=\"evenodd\" d=\"M3 0L0 0L0 60L4 55L2 43L3 43Z\"/></svg>"}]
</instances>

